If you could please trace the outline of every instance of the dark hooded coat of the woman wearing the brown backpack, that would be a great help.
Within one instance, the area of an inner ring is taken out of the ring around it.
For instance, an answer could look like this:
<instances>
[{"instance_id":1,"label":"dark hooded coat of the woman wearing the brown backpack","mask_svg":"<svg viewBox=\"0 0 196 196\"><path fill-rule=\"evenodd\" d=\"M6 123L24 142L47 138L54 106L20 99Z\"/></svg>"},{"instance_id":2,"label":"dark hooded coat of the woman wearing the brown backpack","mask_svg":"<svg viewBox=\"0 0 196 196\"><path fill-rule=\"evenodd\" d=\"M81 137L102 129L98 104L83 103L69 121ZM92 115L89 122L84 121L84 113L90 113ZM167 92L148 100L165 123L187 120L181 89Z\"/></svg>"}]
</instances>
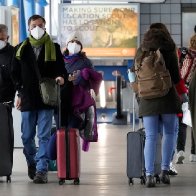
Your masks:
<instances>
[{"instance_id":1,"label":"dark hooded coat of the woman wearing the brown backpack","mask_svg":"<svg viewBox=\"0 0 196 196\"><path fill-rule=\"evenodd\" d=\"M139 116L177 114L181 112L181 102L174 84L180 81L176 47L172 39L164 32L151 29L144 35L141 45L142 50L157 50L160 48L165 64L170 72L173 86L164 97L139 100ZM141 58L142 50L138 49L136 60ZM139 60L138 60L139 61Z\"/></svg>"}]
</instances>

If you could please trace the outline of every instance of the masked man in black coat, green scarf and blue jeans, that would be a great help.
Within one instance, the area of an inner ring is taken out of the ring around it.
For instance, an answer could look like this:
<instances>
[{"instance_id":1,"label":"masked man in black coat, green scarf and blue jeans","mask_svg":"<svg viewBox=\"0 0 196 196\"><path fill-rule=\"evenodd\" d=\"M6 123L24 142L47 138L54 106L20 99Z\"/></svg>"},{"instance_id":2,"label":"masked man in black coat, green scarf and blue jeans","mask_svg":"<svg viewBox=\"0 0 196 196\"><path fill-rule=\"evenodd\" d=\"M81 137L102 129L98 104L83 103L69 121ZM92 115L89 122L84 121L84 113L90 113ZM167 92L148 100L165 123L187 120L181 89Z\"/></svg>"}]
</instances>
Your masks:
<instances>
[{"instance_id":1,"label":"masked man in black coat, green scarf and blue jeans","mask_svg":"<svg viewBox=\"0 0 196 196\"><path fill-rule=\"evenodd\" d=\"M21 110L23 153L28 166L28 176L36 184L47 183L48 157L47 142L52 127L54 108L43 103L39 79L53 78L60 85L67 78L60 46L53 43L45 29L45 19L33 15L28 20L29 37L15 48L12 62L12 76L18 91L16 108ZM39 148L36 149L35 135Z\"/></svg>"}]
</instances>

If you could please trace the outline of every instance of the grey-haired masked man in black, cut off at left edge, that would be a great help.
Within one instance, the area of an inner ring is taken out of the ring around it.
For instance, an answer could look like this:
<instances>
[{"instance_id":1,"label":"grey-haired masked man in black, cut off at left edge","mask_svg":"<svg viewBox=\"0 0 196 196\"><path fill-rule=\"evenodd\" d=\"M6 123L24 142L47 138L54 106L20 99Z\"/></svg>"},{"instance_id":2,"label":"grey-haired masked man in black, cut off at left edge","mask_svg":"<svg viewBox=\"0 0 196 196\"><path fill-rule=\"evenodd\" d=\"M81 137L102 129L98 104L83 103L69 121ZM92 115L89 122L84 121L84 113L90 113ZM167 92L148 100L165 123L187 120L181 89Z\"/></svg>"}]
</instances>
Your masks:
<instances>
[{"instance_id":1,"label":"grey-haired masked man in black, cut off at left edge","mask_svg":"<svg viewBox=\"0 0 196 196\"><path fill-rule=\"evenodd\" d=\"M14 47L8 43L8 28L0 24L0 103L9 102L12 106L15 88L10 74Z\"/></svg>"}]
</instances>

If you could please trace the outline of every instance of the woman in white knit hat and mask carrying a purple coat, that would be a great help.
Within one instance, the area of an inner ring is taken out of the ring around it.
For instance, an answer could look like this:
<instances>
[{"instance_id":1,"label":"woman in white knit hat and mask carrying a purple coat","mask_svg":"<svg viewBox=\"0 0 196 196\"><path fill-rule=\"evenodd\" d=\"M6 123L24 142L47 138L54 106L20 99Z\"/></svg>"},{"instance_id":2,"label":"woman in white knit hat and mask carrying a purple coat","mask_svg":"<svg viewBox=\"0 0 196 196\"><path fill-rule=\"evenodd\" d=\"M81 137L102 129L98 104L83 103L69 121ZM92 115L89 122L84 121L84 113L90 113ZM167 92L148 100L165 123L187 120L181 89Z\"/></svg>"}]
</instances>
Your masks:
<instances>
[{"instance_id":1,"label":"woman in white knit hat and mask carrying a purple coat","mask_svg":"<svg viewBox=\"0 0 196 196\"><path fill-rule=\"evenodd\" d=\"M95 94L98 94L102 74L94 69L92 62L82 50L83 45L75 33L68 37L66 45L67 48L63 52L63 56L65 68L69 74L69 85L61 90L62 123L68 128L80 130L80 136L84 141L83 150L86 151L90 140L85 137L84 130L89 134L93 133L91 141L96 142L98 139L96 104L90 90L93 89ZM68 92L69 95L67 95ZM66 104L68 98L69 100L71 98L69 107Z\"/></svg>"}]
</instances>

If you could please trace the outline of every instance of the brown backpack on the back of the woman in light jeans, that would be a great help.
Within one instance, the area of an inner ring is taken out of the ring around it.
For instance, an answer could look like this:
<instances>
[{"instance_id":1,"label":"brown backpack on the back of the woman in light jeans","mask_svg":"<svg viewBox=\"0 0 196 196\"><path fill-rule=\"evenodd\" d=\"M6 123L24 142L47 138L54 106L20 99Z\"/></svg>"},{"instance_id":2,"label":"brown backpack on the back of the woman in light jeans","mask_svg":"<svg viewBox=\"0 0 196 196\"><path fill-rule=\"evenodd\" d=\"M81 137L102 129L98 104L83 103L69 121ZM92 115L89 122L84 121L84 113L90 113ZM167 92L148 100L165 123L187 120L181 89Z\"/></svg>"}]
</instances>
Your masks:
<instances>
[{"instance_id":1,"label":"brown backpack on the back of the woman in light jeans","mask_svg":"<svg viewBox=\"0 0 196 196\"><path fill-rule=\"evenodd\" d=\"M172 87L169 70L160 50L143 51L140 62L135 63L138 96L153 99L165 96Z\"/></svg>"}]
</instances>

